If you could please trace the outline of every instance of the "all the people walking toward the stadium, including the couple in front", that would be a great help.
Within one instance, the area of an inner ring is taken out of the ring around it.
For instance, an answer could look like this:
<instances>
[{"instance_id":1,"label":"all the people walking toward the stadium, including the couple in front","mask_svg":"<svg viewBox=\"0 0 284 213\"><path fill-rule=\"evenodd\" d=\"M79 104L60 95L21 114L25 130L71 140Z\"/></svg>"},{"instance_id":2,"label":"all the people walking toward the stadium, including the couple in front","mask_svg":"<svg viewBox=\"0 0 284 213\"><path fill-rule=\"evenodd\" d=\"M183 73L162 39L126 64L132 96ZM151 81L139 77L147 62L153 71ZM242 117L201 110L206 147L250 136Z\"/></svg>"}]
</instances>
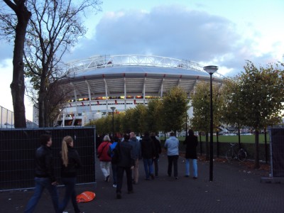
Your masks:
<instances>
[{"instance_id":1,"label":"all the people walking toward the stadium, including the couple in front","mask_svg":"<svg viewBox=\"0 0 284 213\"><path fill-rule=\"evenodd\" d=\"M184 144L185 151L185 177L190 177L190 164L192 164L193 178L197 179L197 136L190 129ZM61 181L65 185L65 196L62 202L58 197L58 180L56 180L53 168L53 154L51 151L52 137L48 134L40 136L41 146L35 151L35 191L26 205L25 211L33 212L36 204L40 200L43 190L46 188L50 193L53 207L56 213L64 212L68 202L71 200L75 213L80 213L76 200L76 177L77 170L82 166L80 155L74 148L74 141L71 136L62 139L62 148L59 153L61 159ZM170 133L170 138L165 141L164 148L168 155L168 176L171 177L172 170L175 179L178 179L178 158L179 141L174 133ZM160 140L155 133L144 133L141 140L138 140L135 133L125 133L124 138L114 137L111 141L109 136L104 136L104 140L97 149L100 161L100 168L104 174L104 180L109 182L110 168L112 170L113 187L116 187L116 198L121 199L121 188L126 173L128 193L133 193L133 184L138 184L139 160L143 160L145 170L145 180L158 178L159 154L161 153Z\"/></svg>"}]
</instances>

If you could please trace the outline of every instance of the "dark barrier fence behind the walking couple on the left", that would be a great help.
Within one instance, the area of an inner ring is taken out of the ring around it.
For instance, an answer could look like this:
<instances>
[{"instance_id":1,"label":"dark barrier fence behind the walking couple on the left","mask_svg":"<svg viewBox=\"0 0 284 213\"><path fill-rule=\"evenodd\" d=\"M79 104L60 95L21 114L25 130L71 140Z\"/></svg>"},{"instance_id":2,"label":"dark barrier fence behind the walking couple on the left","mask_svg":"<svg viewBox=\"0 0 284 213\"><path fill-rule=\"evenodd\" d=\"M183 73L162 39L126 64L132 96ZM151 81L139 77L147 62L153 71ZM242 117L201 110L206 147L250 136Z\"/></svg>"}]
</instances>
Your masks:
<instances>
[{"instance_id":1,"label":"dark barrier fence behind the walking couple on the left","mask_svg":"<svg viewBox=\"0 0 284 213\"><path fill-rule=\"evenodd\" d=\"M40 146L39 137L50 134L53 138L55 176L60 180L60 149L62 138L72 136L75 149L82 160L77 183L95 183L94 127L1 129L0 130L0 191L34 187L35 150Z\"/></svg>"}]
</instances>

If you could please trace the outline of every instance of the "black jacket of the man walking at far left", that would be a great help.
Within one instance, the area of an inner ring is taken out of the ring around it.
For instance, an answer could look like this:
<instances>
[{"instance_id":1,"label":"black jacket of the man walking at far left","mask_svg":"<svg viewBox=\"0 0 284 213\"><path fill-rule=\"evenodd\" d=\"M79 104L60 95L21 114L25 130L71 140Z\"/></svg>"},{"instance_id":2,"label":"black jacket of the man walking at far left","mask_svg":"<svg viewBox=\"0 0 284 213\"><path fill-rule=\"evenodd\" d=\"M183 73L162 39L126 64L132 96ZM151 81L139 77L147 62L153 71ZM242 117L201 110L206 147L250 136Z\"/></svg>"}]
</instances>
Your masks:
<instances>
[{"instance_id":1,"label":"black jacket of the man walking at far left","mask_svg":"<svg viewBox=\"0 0 284 213\"><path fill-rule=\"evenodd\" d=\"M50 178L51 182L55 182L53 168L53 153L48 146L40 146L35 151L35 177Z\"/></svg>"}]
</instances>

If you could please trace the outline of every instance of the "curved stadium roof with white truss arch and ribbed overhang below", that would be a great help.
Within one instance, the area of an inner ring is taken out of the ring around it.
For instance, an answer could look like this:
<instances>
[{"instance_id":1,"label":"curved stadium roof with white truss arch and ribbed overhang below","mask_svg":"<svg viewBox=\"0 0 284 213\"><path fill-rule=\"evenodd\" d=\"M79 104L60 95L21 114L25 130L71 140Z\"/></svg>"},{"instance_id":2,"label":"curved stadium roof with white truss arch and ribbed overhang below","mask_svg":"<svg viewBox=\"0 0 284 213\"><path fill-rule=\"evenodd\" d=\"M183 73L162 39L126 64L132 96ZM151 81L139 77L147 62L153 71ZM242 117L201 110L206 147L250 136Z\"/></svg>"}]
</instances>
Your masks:
<instances>
[{"instance_id":1,"label":"curved stadium roof with white truss arch and ribbed overhang below","mask_svg":"<svg viewBox=\"0 0 284 213\"><path fill-rule=\"evenodd\" d=\"M71 84L77 97L163 97L173 86L190 94L195 84L210 80L196 62L147 55L97 56L71 62L67 69L69 76L62 84ZM215 73L212 81L222 84L223 78Z\"/></svg>"}]
</instances>

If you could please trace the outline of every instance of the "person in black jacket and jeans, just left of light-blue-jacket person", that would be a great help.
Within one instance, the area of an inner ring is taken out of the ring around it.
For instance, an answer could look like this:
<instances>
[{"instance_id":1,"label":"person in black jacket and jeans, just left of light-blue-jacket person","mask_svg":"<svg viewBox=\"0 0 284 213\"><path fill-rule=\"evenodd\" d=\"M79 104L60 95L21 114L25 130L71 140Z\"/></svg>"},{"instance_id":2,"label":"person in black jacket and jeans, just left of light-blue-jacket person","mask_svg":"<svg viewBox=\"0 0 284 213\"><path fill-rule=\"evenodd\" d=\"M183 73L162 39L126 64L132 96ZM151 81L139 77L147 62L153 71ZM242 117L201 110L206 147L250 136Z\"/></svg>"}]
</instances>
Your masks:
<instances>
[{"instance_id":1,"label":"person in black jacket and jeans, just left of light-blue-jacket person","mask_svg":"<svg viewBox=\"0 0 284 213\"><path fill-rule=\"evenodd\" d=\"M146 180L150 180L150 176L152 179L154 179L153 159L155 159L155 144L150 138L148 132L144 133L144 136L141 140L141 153L143 158Z\"/></svg>"}]
</instances>

